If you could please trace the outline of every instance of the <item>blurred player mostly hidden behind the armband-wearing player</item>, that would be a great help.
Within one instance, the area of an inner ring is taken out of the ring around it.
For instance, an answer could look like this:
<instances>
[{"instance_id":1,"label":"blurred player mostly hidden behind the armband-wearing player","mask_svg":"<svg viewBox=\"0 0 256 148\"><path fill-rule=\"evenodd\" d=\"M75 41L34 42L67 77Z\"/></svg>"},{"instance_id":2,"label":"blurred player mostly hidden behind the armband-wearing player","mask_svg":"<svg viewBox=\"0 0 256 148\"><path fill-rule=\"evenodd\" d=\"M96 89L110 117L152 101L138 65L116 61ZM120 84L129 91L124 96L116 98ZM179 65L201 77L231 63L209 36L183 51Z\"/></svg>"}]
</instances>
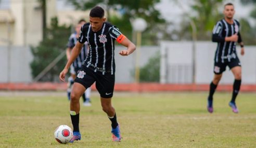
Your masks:
<instances>
[{"instance_id":1,"label":"blurred player mostly hidden behind the armband-wearing player","mask_svg":"<svg viewBox=\"0 0 256 148\"><path fill-rule=\"evenodd\" d=\"M69 37L69 41L68 41L68 45L67 45L67 52L66 52L66 56L67 56L68 60L70 58L72 48L75 46L75 43L78 41L81 26L85 23L86 23L85 20L83 20L83 19L80 20L78 22L78 24L76 24L76 26L75 26L75 33L72 33ZM74 62L70 66L71 76L68 78L68 89L67 89L69 100L70 100L70 94L71 94L71 89L72 89L72 86L74 83L74 79L75 79L76 75L78 74L79 70L81 69L82 64L84 63L84 60L87 55L88 55L88 44L86 42L83 45L83 48L81 49L79 56L74 60ZM91 87L87 88L85 93L83 93L83 95L82 95L84 106L91 106L91 100L89 99L90 95L91 95Z\"/></svg>"}]
</instances>

